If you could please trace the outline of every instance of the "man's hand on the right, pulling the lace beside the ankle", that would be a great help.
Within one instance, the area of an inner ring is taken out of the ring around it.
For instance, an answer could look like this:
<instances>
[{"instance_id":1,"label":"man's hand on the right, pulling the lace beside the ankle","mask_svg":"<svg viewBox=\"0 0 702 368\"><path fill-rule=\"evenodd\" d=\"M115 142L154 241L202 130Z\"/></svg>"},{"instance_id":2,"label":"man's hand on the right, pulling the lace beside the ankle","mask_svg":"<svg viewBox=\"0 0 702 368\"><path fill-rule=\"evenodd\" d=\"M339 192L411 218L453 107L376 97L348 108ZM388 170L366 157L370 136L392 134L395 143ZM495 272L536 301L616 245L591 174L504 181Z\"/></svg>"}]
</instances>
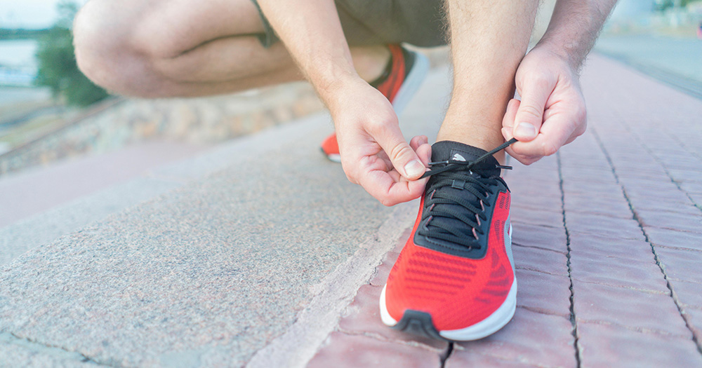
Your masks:
<instances>
[{"instance_id":1,"label":"man's hand on the right, pulling the lace beside the ankle","mask_svg":"<svg viewBox=\"0 0 702 368\"><path fill-rule=\"evenodd\" d=\"M510 156L529 165L585 132L585 99L566 57L537 45L519 64L515 82L522 100L510 100L502 121L505 139L519 140L506 149Z\"/></svg>"}]
</instances>

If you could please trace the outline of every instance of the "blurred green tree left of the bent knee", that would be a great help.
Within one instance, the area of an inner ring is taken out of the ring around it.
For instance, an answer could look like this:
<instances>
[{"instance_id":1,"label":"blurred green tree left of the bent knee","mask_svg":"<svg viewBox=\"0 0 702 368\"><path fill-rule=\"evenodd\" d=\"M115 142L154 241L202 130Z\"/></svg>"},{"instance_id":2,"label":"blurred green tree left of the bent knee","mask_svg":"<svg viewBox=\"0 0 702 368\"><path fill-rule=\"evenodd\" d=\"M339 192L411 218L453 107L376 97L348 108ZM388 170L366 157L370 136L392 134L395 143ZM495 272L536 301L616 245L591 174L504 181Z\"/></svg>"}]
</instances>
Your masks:
<instances>
[{"instance_id":1,"label":"blurred green tree left of the bent knee","mask_svg":"<svg viewBox=\"0 0 702 368\"><path fill-rule=\"evenodd\" d=\"M108 94L81 73L76 64L71 25L78 8L72 1L60 2L58 21L39 39L37 84L51 88L54 97L65 97L69 105L88 106Z\"/></svg>"}]
</instances>

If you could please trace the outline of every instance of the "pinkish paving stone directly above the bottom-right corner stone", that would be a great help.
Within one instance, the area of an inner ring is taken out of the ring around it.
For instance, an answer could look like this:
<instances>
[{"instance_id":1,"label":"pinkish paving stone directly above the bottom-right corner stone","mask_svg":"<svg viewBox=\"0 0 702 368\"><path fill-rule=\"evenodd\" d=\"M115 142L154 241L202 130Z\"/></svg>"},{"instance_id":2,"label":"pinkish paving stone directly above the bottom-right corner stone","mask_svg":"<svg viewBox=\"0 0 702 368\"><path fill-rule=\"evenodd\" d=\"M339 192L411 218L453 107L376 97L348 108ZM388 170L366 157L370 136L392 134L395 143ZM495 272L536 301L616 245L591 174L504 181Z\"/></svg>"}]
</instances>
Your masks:
<instances>
[{"instance_id":1,"label":"pinkish paving stone directly above the bottom-right corner stone","mask_svg":"<svg viewBox=\"0 0 702 368\"><path fill-rule=\"evenodd\" d=\"M691 336L669 295L578 280L573 280L573 293L578 323L601 321L642 331ZM651 318L652 315L656 318Z\"/></svg>"}]
</instances>

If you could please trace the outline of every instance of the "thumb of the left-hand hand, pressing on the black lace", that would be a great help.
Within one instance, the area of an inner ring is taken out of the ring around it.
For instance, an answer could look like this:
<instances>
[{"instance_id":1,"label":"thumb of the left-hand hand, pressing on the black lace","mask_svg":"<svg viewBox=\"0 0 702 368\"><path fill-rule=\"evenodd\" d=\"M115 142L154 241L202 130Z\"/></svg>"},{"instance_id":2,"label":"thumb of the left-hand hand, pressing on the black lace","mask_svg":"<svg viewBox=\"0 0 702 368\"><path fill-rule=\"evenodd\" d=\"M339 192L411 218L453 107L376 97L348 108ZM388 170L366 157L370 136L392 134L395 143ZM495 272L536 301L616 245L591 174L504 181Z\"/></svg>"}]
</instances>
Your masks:
<instances>
[{"instance_id":1,"label":"thumb of the left-hand hand, pressing on the black lace","mask_svg":"<svg viewBox=\"0 0 702 368\"><path fill-rule=\"evenodd\" d=\"M371 131L380 147L388 154L395 170L406 179L418 179L426 171L416 152L404 140L397 124L376 125Z\"/></svg>"}]
</instances>

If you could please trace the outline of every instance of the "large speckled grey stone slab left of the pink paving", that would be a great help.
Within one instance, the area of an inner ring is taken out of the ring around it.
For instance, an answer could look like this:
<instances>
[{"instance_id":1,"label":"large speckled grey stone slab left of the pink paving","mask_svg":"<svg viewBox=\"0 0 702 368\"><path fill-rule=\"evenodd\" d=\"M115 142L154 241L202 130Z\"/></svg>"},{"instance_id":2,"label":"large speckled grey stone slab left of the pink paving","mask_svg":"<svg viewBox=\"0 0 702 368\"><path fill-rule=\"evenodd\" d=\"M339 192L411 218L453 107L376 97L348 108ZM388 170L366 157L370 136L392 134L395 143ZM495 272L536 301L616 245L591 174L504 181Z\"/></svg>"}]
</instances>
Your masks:
<instances>
[{"instance_id":1,"label":"large speckled grey stone slab left of the pink paving","mask_svg":"<svg viewBox=\"0 0 702 368\"><path fill-rule=\"evenodd\" d=\"M408 137L437 132L448 88L448 70L432 71L400 117ZM416 215L319 154L331 130L327 114L303 118L6 227L6 343L98 364L241 365L296 326L308 360Z\"/></svg>"}]
</instances>

